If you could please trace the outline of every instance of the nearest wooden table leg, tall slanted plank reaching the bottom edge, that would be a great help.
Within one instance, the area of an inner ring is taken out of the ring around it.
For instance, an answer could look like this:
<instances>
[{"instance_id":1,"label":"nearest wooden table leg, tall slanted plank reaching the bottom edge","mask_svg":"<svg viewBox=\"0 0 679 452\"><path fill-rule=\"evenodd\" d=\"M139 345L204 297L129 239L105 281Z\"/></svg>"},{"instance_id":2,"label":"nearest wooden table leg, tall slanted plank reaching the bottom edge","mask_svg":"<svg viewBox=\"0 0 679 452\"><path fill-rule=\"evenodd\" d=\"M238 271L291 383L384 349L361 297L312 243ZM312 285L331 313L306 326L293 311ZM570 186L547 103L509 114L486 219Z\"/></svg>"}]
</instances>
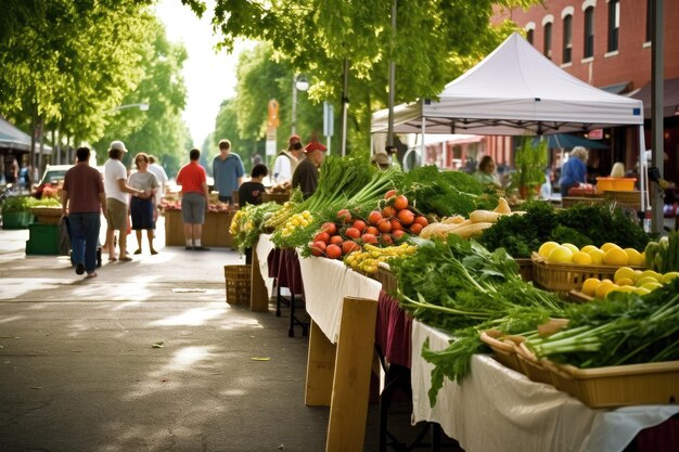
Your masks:
<instances>
[{"instance_id":1,"label":"nearest wooden table leg, tall slanted plank reaching the bottom edge","mask_svg":"<svg viewBox=\"0 0 679 452\"><path fill-rule=\"evenodd\" d=\"M363 451L376 319L376 300L344 299L326 452Z\"/></svg>"}]
</instances>

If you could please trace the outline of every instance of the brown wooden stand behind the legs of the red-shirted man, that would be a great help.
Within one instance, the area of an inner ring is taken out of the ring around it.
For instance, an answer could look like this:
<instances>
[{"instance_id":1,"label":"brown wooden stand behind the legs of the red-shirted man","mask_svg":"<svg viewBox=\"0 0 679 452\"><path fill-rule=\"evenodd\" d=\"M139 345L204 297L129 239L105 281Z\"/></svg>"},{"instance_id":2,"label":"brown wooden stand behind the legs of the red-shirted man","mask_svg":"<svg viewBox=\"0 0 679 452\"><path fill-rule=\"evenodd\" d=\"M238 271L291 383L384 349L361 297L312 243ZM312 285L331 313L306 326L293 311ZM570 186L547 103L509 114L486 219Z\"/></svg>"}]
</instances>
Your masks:
<instances>
[{"instance_id":1,"label":"brown wooden stand behind the legs of the red-shirted man","mask_svg":"<svg viewBox=\"0 0 679 452\"><path fill-rule=\"evenodd\" d=\"M234 211L207 211L205 212L205 223L203 224L204 246L233 245L233 236L229 232ZM165 210L165 246L183 246L184 223L181 220L181 210Z\"/></svg>"}]
</instances>

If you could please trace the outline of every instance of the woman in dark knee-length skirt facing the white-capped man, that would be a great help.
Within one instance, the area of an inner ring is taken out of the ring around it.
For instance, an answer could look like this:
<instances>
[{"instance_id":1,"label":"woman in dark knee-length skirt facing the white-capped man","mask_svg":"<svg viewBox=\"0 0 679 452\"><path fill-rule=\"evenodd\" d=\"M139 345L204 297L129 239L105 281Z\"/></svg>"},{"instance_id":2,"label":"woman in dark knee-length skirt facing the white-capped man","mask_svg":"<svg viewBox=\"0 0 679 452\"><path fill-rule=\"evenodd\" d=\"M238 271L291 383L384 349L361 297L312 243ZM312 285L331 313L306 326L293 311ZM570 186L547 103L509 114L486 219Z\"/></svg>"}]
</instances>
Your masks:
<instances>
[{"instance_id":1,"label":"woman in dark knee-length skirt facing the white-capped man","mask_svg":"<svg viewBox=\"0 0 679 452\"><path fill-rule=\"evenodd\" d=\"M141 254L141 231L146 231L149 240L149 250L152 255L158 251L153 247L153 236L155 231L155 192L158 190L158 181L155 175L149 171L149 156L140 152L134 156L137 171L132 172L127 180L127 184L132 189L141 190L143 195L132 195L130 199L130 216L132 217L132 230L137 235L136 255Z\"/></svg>"}]
</instances>

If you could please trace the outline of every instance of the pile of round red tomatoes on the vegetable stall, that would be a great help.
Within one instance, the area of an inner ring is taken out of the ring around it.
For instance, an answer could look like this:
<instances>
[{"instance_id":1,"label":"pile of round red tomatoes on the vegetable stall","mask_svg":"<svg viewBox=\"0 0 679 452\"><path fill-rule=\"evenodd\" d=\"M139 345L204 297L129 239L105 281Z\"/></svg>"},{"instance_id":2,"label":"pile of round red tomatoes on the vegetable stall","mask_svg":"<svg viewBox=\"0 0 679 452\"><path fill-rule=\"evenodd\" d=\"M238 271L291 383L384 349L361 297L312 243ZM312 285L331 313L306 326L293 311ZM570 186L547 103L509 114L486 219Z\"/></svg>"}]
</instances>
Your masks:
<instances>
[{"instance_id":1,"label":"pile of round red tomatoes on the vegetable stall","mask_svg":"<svg viewBox=\"0 0 679 452\"><path fill-rule=\"evenodd\" d=\"M418 215L409 206L408 198L395 190L384 196L386 205L375 209L368 218L351 215L347 209L337 212L336 220L325 222L311 243L313 256L342 259L361 249L362 244L392 246L403 235L419 235L428 224L423 215ZM381 202L384 204L385 202Z\"/></svg>"}]
</instances>

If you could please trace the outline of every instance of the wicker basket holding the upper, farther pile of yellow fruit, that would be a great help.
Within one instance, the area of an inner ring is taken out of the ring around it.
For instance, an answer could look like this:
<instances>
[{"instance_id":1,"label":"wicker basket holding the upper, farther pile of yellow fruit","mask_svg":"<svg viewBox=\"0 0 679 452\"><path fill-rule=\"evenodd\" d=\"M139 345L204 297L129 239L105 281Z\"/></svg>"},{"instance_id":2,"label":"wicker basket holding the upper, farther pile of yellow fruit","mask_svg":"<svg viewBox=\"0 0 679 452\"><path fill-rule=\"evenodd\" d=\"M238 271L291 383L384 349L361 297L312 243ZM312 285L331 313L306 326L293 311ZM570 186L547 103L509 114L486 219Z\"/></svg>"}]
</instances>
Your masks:
<instances>
[{"instance_id":1,"label":"wicker basket holding the upper, farther pile of yellow fruit","mask_svg":"<svg viewBox=\"0 0 679 452\"><path fill-rule=\"evenodd\" d=\"M631 267L639 269L640 267ZM538 255L533 254L533 281L540 287L567 293L579 290L588 277L613 280L617 266L580 266L578 263L549 263Z\"/></svg>"}]
</instances>

